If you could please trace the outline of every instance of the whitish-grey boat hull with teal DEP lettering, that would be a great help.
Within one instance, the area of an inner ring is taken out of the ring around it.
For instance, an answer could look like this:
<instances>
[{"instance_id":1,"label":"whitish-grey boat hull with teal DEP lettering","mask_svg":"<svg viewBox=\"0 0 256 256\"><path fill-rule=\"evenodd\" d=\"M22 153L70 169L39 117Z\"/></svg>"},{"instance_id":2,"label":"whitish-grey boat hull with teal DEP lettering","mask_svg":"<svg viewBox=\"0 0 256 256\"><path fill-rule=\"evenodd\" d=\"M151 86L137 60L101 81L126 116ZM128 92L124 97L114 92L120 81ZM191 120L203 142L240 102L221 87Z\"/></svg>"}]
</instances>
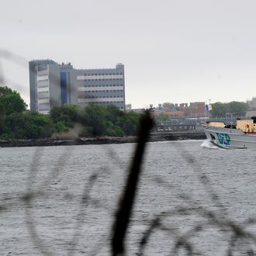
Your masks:
<instances>
[{"instance_id":1,"label":"whitish-grey boat hull with teal DEP lettering","mask_svg":"<svg viewBox=\"0 0 256 256\"><path fill-rule=\"evenodd\" d=\"M206 127L206 137L222 148L256 148L256 135L230 128Z\"/></svg>"}]
</instances>

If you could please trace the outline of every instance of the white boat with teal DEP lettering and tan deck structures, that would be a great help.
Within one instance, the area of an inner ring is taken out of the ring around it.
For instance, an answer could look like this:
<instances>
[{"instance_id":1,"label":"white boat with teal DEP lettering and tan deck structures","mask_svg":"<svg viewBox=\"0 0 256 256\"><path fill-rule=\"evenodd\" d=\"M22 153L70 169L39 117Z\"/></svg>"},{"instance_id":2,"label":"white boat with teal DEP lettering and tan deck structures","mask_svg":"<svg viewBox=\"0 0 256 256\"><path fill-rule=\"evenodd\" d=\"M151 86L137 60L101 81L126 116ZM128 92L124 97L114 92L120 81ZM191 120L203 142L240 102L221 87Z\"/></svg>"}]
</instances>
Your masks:
<instances>
[{"instance_id":1,"label":"white boat with teal DEP lettering and tan deck structures","mask_svg":"<svg viewBox=\"0 0 256 256\"><path fill-rule=\"evenodd\" d=\"M206 137L222 148L256 148L256 117L237 119L237 125L223 122L206 122Z\"/></svg>"}]
</instances>

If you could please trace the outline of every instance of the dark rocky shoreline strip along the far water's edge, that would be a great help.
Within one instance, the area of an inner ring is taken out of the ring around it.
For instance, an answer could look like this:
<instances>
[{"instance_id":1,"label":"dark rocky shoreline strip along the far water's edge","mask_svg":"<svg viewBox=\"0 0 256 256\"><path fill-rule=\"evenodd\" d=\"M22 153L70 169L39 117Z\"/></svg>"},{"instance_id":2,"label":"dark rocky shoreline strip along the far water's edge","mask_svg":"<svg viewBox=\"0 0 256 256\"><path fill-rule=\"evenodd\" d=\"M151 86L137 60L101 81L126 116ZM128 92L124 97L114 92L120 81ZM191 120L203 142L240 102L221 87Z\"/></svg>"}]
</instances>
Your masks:
<instances>
[{"instance_id":1,"label":"dark rocky shoreline strip along the far water's edge","mask_svg":"<svg viewBox=\"0 0 256 256\"><path fill-rule=\"evenodd\" d=\"M206 135L202 131L186 132L161 132L151 133L150 142L168 140L205 140ZM56 140L52 138L38 140L0 140L0 147L46 147L67 145L91 145L91 144L124 144L134 143L136 137L81 137L72 140Z\"/></svg>"}]
</instances>

